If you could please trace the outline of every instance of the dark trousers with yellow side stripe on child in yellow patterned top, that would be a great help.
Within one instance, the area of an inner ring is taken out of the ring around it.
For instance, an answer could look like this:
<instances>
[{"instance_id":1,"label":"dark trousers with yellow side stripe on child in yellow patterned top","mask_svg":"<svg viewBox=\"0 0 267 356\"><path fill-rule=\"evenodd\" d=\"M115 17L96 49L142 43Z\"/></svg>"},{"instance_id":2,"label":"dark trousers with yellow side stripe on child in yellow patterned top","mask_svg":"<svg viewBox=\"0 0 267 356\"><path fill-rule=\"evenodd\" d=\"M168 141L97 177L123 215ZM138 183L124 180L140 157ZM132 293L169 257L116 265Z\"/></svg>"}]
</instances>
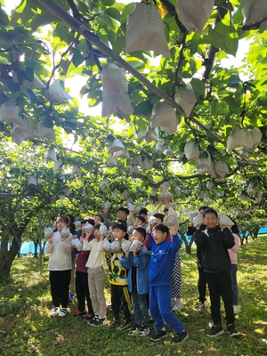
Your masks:
<instances>
[{"instance_id":1,"label":"dark trousers with yellow side stripe on child in yellow patterned top","mask_svg":"<svg viewBox=\"0 0 267 356\"><path fill-rule=\"evenodd\" d=\"M119 320L119 307L122 303L123 311L125 314L125 320L131 322L131 297L129 294L128 286L117 286L116 284L110 284L111 286L111 308L113 317Z\"/></svg>"}]
</instances>

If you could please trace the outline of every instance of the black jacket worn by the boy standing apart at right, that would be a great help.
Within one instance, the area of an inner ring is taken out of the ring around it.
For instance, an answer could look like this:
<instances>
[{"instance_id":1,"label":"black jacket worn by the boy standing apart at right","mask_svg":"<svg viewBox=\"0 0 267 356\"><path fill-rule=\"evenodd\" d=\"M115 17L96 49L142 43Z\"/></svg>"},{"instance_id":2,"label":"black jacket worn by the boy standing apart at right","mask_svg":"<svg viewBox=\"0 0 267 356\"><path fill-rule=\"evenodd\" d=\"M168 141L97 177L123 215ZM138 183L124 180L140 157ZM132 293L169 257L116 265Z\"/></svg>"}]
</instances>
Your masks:
<instances>
[{"instance_id":1,"label":"black jacket worn by the boy standing apart at right","mask_svg":"<svg viewBox=\"0 0 267 356\"><path fill-rule=\"evenodd\" d=\"M201 250L201 265L207 271L231 271L228 248L235 245L229 229L216 227L206 231L197 230L194 235L197 247Z\"/></svg>"}]
</instances>

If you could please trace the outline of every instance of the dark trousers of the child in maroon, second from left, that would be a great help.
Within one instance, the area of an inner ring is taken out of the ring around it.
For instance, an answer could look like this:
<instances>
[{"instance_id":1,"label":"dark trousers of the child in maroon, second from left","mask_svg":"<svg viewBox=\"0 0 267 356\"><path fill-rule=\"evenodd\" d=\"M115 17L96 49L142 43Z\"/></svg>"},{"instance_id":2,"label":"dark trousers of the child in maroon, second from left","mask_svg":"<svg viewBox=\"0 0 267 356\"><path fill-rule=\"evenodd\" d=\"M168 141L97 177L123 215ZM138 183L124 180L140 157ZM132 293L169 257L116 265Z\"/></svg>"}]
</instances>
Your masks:
<instances>
[{"instance_id":1,"label":"dark trousers of the child in maroon, second from left","mask_svg":"<svg viewBox=\"0 0 267 356\"><path fill-rule=\"evenodd\" d=\"M88 273L76 271L75 279L76 296L78 303L78 311L85 311L85 299L88 307L88 314L93 314L93 306L91 303L89 286L88 286Z\"/></svg>"}]
</instances>

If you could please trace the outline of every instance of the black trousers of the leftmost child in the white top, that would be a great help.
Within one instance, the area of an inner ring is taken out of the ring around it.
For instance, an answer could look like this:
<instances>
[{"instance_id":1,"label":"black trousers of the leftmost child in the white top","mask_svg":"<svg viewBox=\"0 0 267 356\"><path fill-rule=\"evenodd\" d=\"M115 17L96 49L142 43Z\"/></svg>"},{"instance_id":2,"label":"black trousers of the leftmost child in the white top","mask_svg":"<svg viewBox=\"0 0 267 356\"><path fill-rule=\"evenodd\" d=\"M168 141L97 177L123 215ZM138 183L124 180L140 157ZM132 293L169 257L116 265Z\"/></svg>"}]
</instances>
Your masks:
<instances>
[{"instance_id":1,"label":"black trousers of the leftmost child in the white top","mask_svg":"<svg viewBox=\"0 0 267 356\"><path fill-rule=\"evenodd\" d=\"M69 281L71 270L50 271L49 280L54 306L62 305L67 308L69 304Z\"/></svg>"}]
</instances>

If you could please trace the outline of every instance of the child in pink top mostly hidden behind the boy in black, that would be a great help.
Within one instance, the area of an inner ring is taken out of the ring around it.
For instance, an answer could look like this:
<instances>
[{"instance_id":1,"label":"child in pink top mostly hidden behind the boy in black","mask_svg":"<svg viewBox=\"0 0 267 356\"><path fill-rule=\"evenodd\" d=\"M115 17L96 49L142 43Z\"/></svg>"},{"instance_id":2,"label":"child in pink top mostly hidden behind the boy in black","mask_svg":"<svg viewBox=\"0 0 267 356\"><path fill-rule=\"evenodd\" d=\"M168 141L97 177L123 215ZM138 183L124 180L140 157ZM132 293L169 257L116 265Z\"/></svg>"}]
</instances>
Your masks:
<instances>
[{"instance_id":1,"label":"child in pink top mostly hidden behind the boy in black","mask_svg":"<svg viewBox=\"0 0 267 356\"><path fill-rule=\"evenodd\" d=\"M234 223L230 227L231 233L235 239L235 246L231 247L228 252L231 259L231 286L232 286L232 302L234 314L238 314L241 312L241 308L239 307L239 288L237 281L237 271L238 271L238 252L239 252L239 228L237 223L231 218L231 221Z\"/></svg>"}]
</instances>

